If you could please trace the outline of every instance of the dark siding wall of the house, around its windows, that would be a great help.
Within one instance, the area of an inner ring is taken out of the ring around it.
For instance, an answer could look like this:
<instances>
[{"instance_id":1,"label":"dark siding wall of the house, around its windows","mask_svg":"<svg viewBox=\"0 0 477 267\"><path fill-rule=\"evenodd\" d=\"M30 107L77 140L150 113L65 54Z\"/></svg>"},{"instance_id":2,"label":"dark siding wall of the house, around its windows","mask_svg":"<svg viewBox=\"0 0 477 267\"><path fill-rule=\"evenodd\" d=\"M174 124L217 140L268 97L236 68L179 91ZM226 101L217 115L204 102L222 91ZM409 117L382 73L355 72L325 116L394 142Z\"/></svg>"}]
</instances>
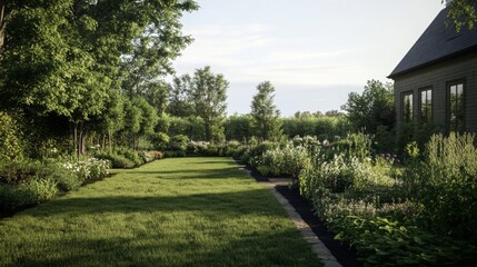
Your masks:
<instances>
[{"instance_id":1,"label":"dark siding wall of the house, around its windows","mask_svg":"<svg viewBox=\"0 0 477 267\"><path fill-rule=\"evenodd\" d=\"M477 51L449 59L395 78L395 107L398 125L403 120L401 98L414 92L414 121L419 116L419 89L433 88L433 119L436 126L447 129L447 85L465 80L465 123L467 131L477 132Z\"/></svg>"}]
</instances>

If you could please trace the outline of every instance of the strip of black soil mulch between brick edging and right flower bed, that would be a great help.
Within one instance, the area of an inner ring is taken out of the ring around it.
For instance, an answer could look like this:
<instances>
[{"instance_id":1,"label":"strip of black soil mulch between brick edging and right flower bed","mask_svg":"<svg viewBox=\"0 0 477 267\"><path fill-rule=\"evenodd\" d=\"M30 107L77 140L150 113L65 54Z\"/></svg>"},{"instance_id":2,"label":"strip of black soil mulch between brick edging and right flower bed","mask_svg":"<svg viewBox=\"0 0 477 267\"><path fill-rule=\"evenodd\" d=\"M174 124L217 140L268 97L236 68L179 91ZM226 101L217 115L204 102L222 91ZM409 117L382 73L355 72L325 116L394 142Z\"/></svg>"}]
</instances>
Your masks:
<instances>
[{"instance_id":1,"label":"strip of black soil mulch between brick edging and right flower bed","mask_svg":"<svg viewBox=\"0 0 477 267\"><path fill-rule=\"evenodd\" d=\"M247 168L250 175L259 182L269 181L267 177L261 176L255 170ZM335 233L328 230L324 221L318 218L312 211L312 206L300 196L298 188L289 188L288 186L277 186L276 190L284 196L295 210L301 216L305 222L311 228L317 237L325 244L329 251L344 267L362 266L356 256L356 249L350 248L348 244L341 244L335 240Z\"/></svg>"}]
</instances>

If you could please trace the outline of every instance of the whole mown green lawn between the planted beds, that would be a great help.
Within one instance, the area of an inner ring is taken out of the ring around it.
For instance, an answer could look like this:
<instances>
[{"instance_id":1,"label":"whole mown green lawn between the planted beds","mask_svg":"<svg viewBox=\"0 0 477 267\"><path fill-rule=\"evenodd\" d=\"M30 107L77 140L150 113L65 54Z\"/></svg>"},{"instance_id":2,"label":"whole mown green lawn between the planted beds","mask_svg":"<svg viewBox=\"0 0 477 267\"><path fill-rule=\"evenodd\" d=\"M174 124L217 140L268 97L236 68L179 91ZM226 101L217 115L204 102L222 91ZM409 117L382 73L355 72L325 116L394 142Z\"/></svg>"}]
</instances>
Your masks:
<instances>
[{"instance_id":1,"label":"whole mown green lawn between the planted beds","mask_svg":"<svg viewBox=\"0 0 477 267\"><path fill-rule=\"evenodd\" d=\"M271 192L228 158L120 171L0 220L0 266L320 266Z\"/></svg>"}]
</instances>

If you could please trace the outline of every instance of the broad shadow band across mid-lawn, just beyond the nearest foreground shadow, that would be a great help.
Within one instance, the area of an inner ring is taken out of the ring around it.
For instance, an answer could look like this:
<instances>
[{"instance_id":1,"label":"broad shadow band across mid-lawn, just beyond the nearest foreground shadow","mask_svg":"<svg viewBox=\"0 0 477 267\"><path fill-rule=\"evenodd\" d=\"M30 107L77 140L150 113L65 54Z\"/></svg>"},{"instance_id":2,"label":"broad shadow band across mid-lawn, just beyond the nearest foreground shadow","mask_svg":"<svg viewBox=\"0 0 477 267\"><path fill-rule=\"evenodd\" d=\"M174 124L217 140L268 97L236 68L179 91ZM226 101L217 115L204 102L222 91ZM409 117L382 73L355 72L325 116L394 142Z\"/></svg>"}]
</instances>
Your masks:
<instances>
[{"instance_id":1,"label":"broad shadow band across mid-lawn, just beyond the nearest foreground shadow","mask_svg":"<svg viewBox=\"0 0 477 267\"><path fill-rule=\"evenodd\" d=\"M52 215L82 216L106 212L171 212L171 211L201 211L216 219L232 218L244 215L285 216L277 215L272 198L268 189L197 194L180 196L115 196L99 198L60 198L52 202L31 209L29 216L48 217ZM274 211L275 210L275 211Z\"/></svg>"}]
</instances>

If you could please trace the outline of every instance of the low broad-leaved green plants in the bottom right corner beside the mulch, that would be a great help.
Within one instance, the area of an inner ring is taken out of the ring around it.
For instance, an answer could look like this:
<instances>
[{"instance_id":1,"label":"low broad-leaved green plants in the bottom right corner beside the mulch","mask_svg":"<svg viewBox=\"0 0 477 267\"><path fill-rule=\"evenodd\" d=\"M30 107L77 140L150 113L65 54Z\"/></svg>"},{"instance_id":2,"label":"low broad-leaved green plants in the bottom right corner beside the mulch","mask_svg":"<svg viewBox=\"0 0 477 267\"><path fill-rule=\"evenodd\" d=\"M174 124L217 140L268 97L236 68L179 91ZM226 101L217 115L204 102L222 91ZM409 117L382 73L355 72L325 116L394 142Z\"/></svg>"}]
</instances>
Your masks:
<instances>
[{"instance_id":1,"label":"low broad-leaved green plants in the bottom right corner beside the mulch","mask_svg":"<svg viewBox=\"0 0 477 267\"><path fill-rule=\"evenodd\" d=\"M445 236L376 217L342 217L337 239L357 248L367 266L454 266L475 257L475 249Z\"/></svg>"}]
</instances>

